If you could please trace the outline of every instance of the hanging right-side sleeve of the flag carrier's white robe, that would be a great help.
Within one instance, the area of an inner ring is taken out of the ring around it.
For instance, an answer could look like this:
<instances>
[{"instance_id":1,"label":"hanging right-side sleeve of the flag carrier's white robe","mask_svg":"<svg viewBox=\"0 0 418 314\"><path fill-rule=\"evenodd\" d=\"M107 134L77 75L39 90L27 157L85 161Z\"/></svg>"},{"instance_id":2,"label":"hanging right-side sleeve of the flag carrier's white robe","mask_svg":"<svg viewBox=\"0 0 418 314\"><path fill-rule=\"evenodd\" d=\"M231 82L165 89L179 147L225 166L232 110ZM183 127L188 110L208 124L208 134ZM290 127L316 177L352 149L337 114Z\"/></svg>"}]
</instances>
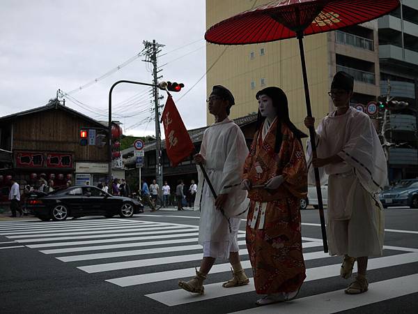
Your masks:
<instances>
[{"instance_id":1,"label":"hanging right-side sleeve of the flag carrier's white robe","mask_svg":"<svg viewBox=\"0 0 418 314\"><path fill-rule=\"evenodd\" d=\"M242 167L245 158L248 156L248 148L245 137L239 126L234 126L229 130L228 140L225 147L226 160L222 170L222 181L220 193L227 194L240 185Z\"/></svg>"}]
</instances>

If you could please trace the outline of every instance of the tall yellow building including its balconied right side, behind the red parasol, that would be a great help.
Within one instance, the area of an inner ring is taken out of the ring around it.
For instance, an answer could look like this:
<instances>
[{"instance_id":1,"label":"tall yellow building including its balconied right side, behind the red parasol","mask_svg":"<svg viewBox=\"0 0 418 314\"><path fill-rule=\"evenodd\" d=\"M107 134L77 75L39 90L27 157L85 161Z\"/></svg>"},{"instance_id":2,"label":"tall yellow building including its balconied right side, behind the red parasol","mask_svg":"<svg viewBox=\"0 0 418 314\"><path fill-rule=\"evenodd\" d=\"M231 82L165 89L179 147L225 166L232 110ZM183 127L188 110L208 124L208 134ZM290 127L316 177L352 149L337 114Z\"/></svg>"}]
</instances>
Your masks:
<instances>
[{"instance_id":1,"label":"tall yellow building including its balconied right side, behind the red parasol","mask_svg":"<svg viewBox=\"0 0 418 314\"><path fill-rule=\"evenodd\" d=\"M207 0L206 28L249 10L255 2L256 6L261 6L269 1ZM338 70L344 70L355 77L353 105L361 103L365 106L371 100L376 100L380 95L377 39L377 21L304 38L314 117L324 117L332 110L327 91L330 90L332 77ZM243 117L257 112L256 92L268 86L277 86L288 96L291 120L298 128L304 129L306 105L296 39L237 46L207 43L206 67L210 68L207 74L207 93L210 94L213 85L222 84L231 89L235 96L231 117ZM207 123L212 122L213 117L207 114Z\"/></svg>"}]
</instances>

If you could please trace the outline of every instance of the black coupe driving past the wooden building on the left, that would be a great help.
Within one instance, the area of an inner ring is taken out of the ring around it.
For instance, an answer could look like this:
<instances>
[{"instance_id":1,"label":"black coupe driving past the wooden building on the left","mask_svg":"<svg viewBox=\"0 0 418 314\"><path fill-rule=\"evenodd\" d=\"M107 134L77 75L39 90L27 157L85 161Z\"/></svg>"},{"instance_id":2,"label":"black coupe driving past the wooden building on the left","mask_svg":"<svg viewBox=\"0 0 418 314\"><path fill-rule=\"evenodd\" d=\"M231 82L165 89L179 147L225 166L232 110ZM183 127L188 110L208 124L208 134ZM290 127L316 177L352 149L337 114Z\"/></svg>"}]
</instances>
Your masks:
<instances>
[{"instance_id":1,"label":"black coupe driving past the wooden building on the left","mask_svg":"<svg viewBox=\"0 0 418 314\"><path fill-rule=\"evenodd\" d=\"M127 218L144 211L144 206L137 200L110 195L95 186L72 186L47 195L32 193L26 198L25 206L40 220L88 215Z\"/></svg>"}]
</instances>

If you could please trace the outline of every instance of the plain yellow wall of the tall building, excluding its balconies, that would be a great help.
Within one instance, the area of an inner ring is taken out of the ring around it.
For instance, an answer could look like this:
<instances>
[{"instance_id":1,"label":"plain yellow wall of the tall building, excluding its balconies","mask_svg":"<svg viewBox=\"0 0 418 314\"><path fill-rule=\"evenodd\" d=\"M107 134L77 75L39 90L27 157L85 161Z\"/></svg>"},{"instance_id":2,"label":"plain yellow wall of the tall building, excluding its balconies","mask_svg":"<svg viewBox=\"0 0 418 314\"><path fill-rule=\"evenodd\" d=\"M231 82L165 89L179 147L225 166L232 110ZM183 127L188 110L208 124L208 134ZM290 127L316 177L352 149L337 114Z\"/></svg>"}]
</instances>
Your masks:
<instances>
[{"instance_id":1,"label":"plain yellow wall of the tall building, excluding its balconies","mask_svg":"<svg viewBox=\"0 0 418 314\"><path fill-rule=\"evenodd\" d=\"M206 29L221 20L249 10L254 2L254 0L207 0ZM256 1L256 6L268 2ZM327 112L330 112L330 99L327 91L330 89L332 64L330 64L327 36L327 33L321 33L304 38L314 117L324 117ZM264 48L264 55L260 55L261 48ZM254 52L254 59L250 58L251 52ZM206 69L209 70L206 78L208 95L212 86L217 84L227 87L234 95L235 105L231 108L231 118L257 112L258 103L255 98L257 91L265 87L277 86L288 96L291 121L301 130L307 131L303 125L307 110L297 39L239 46L207 43ZM261 78L265 79L264 85L261 85ZM254 89L251 89L251 81L255 82ZM207 112L208 125L213 122L214 117Z\"/></svg>"}]
</instances>

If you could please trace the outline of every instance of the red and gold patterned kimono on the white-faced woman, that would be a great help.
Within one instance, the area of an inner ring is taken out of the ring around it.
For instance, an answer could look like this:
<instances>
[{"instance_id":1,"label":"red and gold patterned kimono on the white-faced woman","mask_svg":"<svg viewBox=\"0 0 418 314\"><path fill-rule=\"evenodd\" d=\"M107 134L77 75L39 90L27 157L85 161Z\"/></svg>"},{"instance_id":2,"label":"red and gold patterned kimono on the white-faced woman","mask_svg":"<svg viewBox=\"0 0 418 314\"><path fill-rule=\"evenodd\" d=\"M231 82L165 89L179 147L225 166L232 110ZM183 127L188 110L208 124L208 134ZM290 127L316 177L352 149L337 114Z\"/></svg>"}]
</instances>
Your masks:
<instances>
[{"instance_id":1,"label":"red and gold patterned kimono on the white-faced woman","mask_svg":"<svg viewBox=\"0 0 418 314\"><path fill-rule=\"evenodd\" d=\"M277 190L251 188L247 216L247 248L258 294L293 292L302 285L305 266L300 232L300 198L307 195L307 163L302 144L286 124L281 124L279 154L274 152L277 121L264 141L254 136L245 160L243 179L252 186L283 175Z\"/></svg>"}]
</instances>

